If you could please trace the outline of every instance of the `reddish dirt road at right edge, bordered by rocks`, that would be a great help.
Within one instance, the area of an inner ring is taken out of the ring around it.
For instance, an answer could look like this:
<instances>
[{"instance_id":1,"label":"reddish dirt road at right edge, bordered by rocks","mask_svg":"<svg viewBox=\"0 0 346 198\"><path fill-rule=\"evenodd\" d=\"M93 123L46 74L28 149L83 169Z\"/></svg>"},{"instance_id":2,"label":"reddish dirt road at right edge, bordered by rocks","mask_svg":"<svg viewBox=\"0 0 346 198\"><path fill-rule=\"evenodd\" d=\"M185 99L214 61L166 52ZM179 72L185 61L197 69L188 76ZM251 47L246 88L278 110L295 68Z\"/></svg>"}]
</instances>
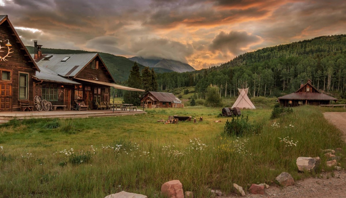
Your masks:
<instances>
[{"instance_id":1,"label":"reddish dirt road at right edge, bordered by rocks","mask_svg":"<svg viewBox=\"0 0 346 198\"><path fill-rule=\"evenodd\" d=\"M343 132L346 142L346 112L325 112L324 117ZM332 177L334 176L334 177ZM222 196L235 198L238 195ZM277 197L277 198L346 198L346 172L334 171L322 173L319 178L307 178L296 181L294 186L285 188L272 185L264 189L264 195L247 194L245 197Z\"/></svg>"}]
</instances>

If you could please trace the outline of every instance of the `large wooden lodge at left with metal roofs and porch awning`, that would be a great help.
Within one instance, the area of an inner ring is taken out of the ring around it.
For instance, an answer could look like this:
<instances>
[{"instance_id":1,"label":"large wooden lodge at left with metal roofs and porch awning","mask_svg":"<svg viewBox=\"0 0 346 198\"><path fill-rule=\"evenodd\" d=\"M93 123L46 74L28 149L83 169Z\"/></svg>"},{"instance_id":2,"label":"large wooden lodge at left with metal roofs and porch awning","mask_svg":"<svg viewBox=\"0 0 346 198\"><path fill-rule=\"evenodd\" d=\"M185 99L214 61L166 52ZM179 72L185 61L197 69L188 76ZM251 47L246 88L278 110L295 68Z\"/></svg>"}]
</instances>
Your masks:
<instances>
[{"instance_id":1,"label":"large wooden lodge at left with metal roofs and porch awning","mask_svg":"<svg viewBox=\"0 0 346 198\"><path fill-rule=\"evenodd\" d=\"M0 15L0 40L0 111L36 110L37 99L54 110L71 110L76 103L97 109L109 102L110 87L144 91L113 84L98 53L42 54L42 45L34 41L30 55L7 15Z\"/></svg>"}]
</instances>

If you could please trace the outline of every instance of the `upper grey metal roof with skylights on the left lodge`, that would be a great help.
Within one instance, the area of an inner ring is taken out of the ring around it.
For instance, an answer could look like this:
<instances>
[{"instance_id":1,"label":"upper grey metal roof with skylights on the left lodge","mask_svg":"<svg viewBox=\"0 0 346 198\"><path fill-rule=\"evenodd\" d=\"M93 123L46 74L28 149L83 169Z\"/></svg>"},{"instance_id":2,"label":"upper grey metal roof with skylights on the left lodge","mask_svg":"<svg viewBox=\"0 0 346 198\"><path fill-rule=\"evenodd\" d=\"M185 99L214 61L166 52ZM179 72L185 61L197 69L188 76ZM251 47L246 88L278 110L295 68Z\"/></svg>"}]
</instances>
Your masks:
<instances>
[{"instance_id":1,"label":"upper grey metal roof with skylights on the left lodge","mask_svg":"<svg viewBox=\"0 0 346 198\"><path fill-rule=\"evenodd\" d=\"M34 54L30 54L34 57ZM37 59L37 63L46 66L46 68L58 73L64 77L74 77L79 71L81 71L86 64L88 64L97 53L87 54L43 54L43 58ZM45 60L44 57L52 56L49 60ZM66 61L61 61L65 57L70 57Z\"/></svg>"}]
</instances>

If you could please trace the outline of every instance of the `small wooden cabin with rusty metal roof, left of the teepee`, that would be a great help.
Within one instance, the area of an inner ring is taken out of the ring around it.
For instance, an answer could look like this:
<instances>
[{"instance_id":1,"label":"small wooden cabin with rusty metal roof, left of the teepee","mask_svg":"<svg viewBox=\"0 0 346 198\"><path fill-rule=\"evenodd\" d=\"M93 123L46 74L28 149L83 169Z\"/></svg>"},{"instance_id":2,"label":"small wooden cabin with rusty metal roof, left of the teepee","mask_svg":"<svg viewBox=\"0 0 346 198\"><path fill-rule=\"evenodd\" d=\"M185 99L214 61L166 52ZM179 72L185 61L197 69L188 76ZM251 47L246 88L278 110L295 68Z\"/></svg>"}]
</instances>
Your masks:
<instances>
[{"instance_id":1,"label":"small wooden cabin with rusty metal roof, left of the teepee","mask_svg":"<svg viewBox=\"0 0 346 198\"><path fill-rule=\"evenodd\" d=\"M142 104L144 103L145 108L183 108L179 98L175 97L173 93L163 93L149 91L146 95L141 98Z\"/></svg>"}]
</instances>

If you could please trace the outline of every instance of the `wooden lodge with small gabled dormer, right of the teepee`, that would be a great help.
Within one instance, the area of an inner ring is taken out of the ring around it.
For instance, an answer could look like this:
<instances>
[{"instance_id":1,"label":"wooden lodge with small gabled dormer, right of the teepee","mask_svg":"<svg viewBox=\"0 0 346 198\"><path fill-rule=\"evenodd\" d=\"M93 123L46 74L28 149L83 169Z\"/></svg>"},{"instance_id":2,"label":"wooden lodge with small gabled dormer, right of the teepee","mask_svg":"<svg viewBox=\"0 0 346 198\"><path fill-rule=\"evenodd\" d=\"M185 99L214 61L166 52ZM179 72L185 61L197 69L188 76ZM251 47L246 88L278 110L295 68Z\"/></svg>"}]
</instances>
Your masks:
<instances>
[{"instance_id":1,"label":"wooden lodge with small gabled dormer, right of the teepee","mask_svg":"<svg viewBox=\"0 0 346 198\"><path fill-rule=\"evenodd\" d=\"M301 84L300 88L294 93L279 97L281 105L287 107L296 107L300 105L329 105L330 100L338 99L328 96L318 91L312 84L311 80Z\"/></svg>"}]
</instances>

